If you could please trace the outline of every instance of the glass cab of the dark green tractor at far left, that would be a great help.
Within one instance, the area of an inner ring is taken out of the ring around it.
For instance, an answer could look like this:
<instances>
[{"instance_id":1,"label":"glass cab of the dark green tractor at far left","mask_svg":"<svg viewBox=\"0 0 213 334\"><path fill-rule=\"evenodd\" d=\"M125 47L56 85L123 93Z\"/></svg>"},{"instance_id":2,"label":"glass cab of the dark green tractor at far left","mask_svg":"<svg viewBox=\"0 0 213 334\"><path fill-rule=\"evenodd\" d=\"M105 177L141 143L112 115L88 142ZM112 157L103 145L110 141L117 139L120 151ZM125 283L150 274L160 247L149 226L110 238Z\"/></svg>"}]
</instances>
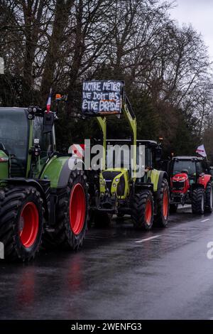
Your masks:
<instances>
[{"instance_id":1,"label":"glass cab of the dark green tractor at far left","mask_svg":"<svg viewBox=\"0 0 213 334\"><path fill-rule=\"evenodd\" d=\"M54 128L44 133L42 115L35 112L33 119L29 116L27 108L0 108L0 162L7 165L0 165L1 179L39 173L53 152Z\"/></svg>"}]
</instances>

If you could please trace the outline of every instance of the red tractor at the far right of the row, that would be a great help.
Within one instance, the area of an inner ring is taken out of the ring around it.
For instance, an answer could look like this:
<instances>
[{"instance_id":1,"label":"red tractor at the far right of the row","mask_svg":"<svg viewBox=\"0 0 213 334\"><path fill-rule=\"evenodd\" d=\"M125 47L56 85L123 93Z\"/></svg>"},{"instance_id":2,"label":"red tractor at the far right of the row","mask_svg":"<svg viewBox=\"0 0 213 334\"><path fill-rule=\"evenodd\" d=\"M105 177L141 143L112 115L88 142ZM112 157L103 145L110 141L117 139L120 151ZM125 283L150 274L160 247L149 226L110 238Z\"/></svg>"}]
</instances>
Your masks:
<instances>
[{"instance_id":1,"label":"red tractor at the far right of the row","mask_svg":"<svg viewBox=\"0 0 213 334\"><path fill-rule=\"evenodd\" d=\"M176 212L178 204L191 204L195 214L212 212L212 175L204 158L175 156L170 161L170 212Z\"/></svg>"}]
</instances>

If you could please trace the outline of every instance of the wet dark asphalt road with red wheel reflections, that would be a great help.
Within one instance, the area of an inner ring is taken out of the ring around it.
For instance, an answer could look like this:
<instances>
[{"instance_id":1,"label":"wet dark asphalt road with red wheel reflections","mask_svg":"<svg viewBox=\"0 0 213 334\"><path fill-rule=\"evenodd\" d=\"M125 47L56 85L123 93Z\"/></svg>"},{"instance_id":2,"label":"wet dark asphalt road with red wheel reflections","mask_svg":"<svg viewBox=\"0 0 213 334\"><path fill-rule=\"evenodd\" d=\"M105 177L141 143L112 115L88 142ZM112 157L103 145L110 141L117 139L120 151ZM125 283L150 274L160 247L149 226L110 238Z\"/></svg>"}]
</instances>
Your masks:
<instances>
[{"instance_id":1,"label":"wet dark asphalt road with red wheel reflections","mask_svg":"<svg viewBox=\"0 0 213 334\"><path fill-rule=\"evenodd\" d=\"M213 318L210 241L213 214L185 208L163 230L136 232L127 217L89 230L80 252L0 262L0 319Z\"/></svg>"}]
</instances>

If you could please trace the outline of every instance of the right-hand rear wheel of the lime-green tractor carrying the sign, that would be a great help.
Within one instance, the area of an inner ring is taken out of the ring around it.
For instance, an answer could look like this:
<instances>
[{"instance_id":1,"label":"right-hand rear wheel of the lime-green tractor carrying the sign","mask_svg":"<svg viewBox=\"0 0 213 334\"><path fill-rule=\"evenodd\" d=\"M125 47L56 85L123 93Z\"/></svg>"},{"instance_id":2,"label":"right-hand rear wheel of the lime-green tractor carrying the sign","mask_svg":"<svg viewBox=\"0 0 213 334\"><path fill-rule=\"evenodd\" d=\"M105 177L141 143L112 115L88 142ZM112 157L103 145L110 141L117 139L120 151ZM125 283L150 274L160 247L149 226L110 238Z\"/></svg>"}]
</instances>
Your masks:
<instances>
[{"instance_id":1,"label":"right-hand rear wheel of the lime-green tractor carrying the sign","mask_svg":"<svg viewBox=\"0 0 213 334\"><path fill-rule=\"evenodd\" d=\"M154 217L155 226L165 227L168 225L168 217L170 210L170 191L168 181L163 178L160 185L160 196L157 198L157 212Z\"/></svg>"}]
</instances>

